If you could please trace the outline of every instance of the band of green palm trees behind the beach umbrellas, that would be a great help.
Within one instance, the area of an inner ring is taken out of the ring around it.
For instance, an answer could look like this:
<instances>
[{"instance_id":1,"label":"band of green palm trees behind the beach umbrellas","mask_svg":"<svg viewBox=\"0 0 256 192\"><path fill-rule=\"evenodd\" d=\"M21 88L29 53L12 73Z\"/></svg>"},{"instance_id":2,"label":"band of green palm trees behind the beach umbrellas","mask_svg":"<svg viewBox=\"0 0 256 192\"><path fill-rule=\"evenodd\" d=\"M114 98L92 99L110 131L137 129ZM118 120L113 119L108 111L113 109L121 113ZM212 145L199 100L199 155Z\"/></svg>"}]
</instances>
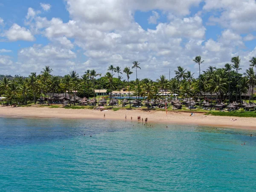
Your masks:
<instances>
[{"instance_id":1,"label":"band of green palm trees behind the beach umbrellas","mask_svg":"<svg viewBox=\"0 0 256 192\"><path fill-rule=\"evenodd\" d=\"M253 57L248 62L248 69L241 74L239 71L241 59L239 56L233 57L230 63L222 68L209 66L202 71L204 64L201 56L193 59L199 67L199 76L178 66L174 71L172 79L166 79L165 75L160 75L156 81L152 79L138 79L140 63L134 61L130 67L123 70L119 66L110 65L107 73L103 76L96 70L87 70L79 76L75 70L70 71L64 77L52 75L52 69L45 66L40 74L32 72L29 77L15 76L13 78L4 77L0 81L0 96L6 97L10 104L21 103L27 105L28 101L34 101L41 97L51 97L53 93L70 93L74 97L94 97L95 89L107 89L112 97L113 90L125 88L134 91L134 96L145 97L147 99L164 99L164 95L159 92L171 92L186 98L212 99L216 95L215 101L241 102L241 96L250 90L249 100L254 101L253 88L256 83L256 58ZM255 70L254 70L255 67ZM130 76L135 69L136 79L130 80ZM76 94L75 94L76 93ZM130 95L130 94L129 94ZM210 98L208 98L210 95ZM130 99L130 98L129 98ZM137 99L137 98L136 98ZM71 105L71 104L70 104Z\"/></svg>"}]
</instances>

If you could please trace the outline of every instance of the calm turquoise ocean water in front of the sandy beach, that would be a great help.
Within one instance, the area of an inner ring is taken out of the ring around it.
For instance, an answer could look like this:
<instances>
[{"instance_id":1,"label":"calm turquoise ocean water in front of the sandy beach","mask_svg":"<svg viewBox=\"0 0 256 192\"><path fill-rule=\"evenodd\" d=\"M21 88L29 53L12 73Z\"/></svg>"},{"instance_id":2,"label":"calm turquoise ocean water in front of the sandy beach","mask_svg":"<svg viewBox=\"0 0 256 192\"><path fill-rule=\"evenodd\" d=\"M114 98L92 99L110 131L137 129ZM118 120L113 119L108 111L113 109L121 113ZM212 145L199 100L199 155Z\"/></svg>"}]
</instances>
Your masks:
<instances>
[{"instance_id":1,"label":"calm turquoise ocean water in front of the sandy beach","mask_svg":"<svg viewBox=\"0 0 256 192\"><path fill-rule=\"evenodd\" d=\"M255 131L151 125L0 118L0 191L256 191Z\"/></svg>"}]
</instances>

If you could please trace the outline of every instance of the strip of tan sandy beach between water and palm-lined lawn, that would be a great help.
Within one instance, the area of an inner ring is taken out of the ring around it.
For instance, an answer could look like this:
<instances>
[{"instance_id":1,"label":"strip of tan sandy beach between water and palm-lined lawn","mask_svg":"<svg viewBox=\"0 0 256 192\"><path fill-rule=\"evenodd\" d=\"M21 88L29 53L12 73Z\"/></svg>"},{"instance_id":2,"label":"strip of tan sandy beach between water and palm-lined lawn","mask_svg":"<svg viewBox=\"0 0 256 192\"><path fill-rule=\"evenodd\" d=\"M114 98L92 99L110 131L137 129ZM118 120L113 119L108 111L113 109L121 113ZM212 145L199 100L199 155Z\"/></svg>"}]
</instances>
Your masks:
<instances>
[{"instance_id":1,"label":"strip of tan sandy beach between water and palm-lined lawn","mask_svg":"<svg viewBox=\"0 0 256 192\"><path fill-rule=\"evenodd\" d=\"M104 118L105 113L105 118ZM96 111L90 109L64 109L64 108L36 108L36 107L0 107L2 117L39 117L39 118L64 118L64 119L113 119L137 122L137 116L145 121L168 124L197 124L218 127L230 127L256 130L256 118L229 117L229 116L206 116L204 113L190 113L169 111L142 111L142 110L119 110L119 111ZM237 119L230 121L230 119Z\"/></svg>"}]
</instances>

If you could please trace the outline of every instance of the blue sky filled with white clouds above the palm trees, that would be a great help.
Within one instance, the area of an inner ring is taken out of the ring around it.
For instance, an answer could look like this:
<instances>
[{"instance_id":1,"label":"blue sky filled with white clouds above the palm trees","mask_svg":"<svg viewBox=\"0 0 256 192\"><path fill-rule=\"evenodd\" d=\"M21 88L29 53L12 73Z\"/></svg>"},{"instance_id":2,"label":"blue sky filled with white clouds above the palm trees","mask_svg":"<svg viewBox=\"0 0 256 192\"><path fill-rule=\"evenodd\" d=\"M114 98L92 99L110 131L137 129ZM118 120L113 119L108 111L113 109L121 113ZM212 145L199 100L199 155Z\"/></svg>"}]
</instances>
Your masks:
<instances>
[{"instance_id":1,"label":"blue sky filled with white clouds above the palm trees","mask_svg":"<svg viewBox=\"0 0 256 192\"><path fill-rule=\"evenodd\" d=\"M256 56L255 0L0 0L0 74L54 75L140 63L138 78L199 74L193 61L245 71ZM131 79L135 79L135 69Z\"/></svg>"}]
</instances>

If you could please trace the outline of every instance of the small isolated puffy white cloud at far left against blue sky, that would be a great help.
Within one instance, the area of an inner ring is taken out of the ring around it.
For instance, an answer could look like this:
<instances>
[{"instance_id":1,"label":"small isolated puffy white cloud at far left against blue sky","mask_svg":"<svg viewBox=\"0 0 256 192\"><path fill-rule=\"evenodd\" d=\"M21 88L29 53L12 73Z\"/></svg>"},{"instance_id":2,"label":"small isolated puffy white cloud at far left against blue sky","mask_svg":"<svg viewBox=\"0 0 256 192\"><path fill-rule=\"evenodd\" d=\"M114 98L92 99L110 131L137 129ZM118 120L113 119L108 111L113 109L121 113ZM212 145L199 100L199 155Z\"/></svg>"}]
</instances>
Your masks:
<instances>
[{"instance_id":1,"label":"small isolated puffy white cloud at far left against blue sky","mask_svg":"<svg viewBox=\"0 0 256 192\"><path fill-rule=\"evenodd\" d=\"M4 33L10 41L35 41L35 37L31 34L29 29L21 27L14 23L9 30Z\"/></svg>"}]
</instances>

